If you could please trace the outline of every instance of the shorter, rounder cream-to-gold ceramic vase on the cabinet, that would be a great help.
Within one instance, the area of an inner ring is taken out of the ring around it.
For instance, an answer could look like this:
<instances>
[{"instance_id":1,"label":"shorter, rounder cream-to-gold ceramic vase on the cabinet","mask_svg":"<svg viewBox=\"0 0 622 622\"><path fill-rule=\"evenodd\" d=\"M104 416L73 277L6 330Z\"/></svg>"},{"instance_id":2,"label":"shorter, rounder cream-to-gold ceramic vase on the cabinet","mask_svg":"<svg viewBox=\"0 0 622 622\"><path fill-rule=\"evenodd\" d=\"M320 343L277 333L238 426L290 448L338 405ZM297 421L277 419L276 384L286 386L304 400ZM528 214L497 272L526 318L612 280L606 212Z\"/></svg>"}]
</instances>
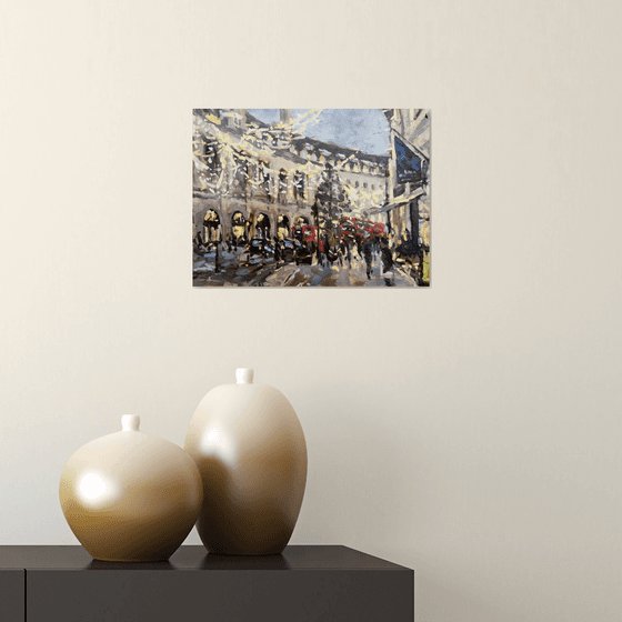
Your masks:
<instances>
[{"instance_id":1,"label":"shorter, rounder cream-to-gold ceramic vase on the cabinet","mask_svg":"<svg viewBox=\"0 0 622 622\"><path fill-rule=\"evenodd\" d=\"M164 561L194 525L203 486L180 447L139 431L126 414L122 430L80 448L60 481L60 503L71 531L96 559Z\"/></svg>"}]
</instances>

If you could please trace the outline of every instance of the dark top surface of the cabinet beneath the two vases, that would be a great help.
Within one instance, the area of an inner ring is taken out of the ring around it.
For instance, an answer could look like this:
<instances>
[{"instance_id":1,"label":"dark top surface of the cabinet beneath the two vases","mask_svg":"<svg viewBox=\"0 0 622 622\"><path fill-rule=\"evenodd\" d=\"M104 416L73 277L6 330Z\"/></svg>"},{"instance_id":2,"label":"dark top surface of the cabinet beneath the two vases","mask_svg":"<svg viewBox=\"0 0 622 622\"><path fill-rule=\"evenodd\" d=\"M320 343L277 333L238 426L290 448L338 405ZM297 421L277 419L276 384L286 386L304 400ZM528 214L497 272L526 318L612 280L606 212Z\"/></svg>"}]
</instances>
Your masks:
<instances>
[{"instance_id":1,"label":"dark top surface of the cabinet beneath the two vases","mask_svg":"<svg viewBox=\"0 0 622 622\"><path fill-rule=\"evenodd\" d=\"M93 560L82 546L0 545L0 569L26 570L410 570L339 545L292 545L281 555L211 555L201 545L181 546L168 562Z\"/></svg>"}]
</instances>

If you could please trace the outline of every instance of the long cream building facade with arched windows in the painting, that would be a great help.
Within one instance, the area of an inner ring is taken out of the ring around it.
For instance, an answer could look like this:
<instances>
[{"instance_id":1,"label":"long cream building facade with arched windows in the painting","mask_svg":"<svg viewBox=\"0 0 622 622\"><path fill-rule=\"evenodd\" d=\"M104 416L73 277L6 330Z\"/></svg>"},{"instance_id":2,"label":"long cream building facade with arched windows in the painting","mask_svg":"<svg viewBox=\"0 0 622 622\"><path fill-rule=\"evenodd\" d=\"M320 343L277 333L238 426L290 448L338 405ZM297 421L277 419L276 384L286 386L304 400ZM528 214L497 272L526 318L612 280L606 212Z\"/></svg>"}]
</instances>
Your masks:
<instances>
[{"instance_id":1,"label":"long cream building facade with arched windows in the painting","mask_svg":"<svg viewBox=\"0 0 622 622\"><path fill-rule=\"evenodd\" d=\"M338 190L323 193L324 214L384 221L371 214L388 200L388 157L305 137L288 109L273 124L243 109L195 109L193 122L195 240L291 238L297 224L313 224L329 178Z\"/></svg>"}]
</instances>

